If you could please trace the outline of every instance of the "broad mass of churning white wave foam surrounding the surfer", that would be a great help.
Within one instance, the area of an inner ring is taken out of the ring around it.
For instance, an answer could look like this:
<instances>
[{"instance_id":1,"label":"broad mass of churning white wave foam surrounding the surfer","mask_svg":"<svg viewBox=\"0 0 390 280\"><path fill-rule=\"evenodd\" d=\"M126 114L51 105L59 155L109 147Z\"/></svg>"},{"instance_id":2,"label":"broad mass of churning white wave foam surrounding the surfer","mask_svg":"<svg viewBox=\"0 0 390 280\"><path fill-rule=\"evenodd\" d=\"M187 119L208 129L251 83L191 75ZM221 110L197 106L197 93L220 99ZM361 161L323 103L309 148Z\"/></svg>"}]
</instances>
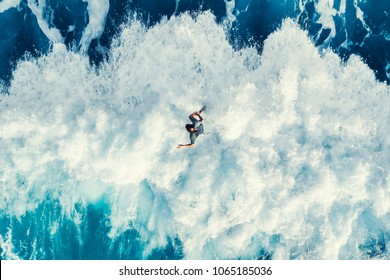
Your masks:
<instances>
[{"instance_id":1,"label":"broad mass of churning white wave foam surrounding the surfer","mask_svg":"<svg viewBox=\"0 0 390 280\"><path fill-rule=\"evenodd\" d=\"M364 258L389 230L390 90L358 57L320 55L290 20L261 56L234 51L210 13L133 21L110 55L95 71L58 44L18 64L0 103L2 209L50 192L71 216L106 195L110 236L138 229L145 257L177 235L190 259ZM203 104L212 133L177 150Z\"/></svg>"}]
</instances>

